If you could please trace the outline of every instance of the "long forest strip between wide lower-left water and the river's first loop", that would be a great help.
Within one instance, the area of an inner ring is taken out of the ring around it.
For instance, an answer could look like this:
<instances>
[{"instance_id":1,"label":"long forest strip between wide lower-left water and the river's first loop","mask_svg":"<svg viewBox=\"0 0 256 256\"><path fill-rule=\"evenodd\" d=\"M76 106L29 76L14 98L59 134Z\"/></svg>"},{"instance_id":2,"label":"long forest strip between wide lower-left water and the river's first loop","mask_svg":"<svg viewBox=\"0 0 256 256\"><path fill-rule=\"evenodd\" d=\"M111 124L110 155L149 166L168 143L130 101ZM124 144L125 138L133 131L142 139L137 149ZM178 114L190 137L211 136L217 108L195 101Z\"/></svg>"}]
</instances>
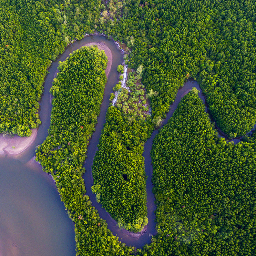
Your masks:
<instances>
[{"instance_id":1,"label":"long forest strip between wide lower-left water and the river's first loop","mask_svg":"<svg viewBox=\"0 0 256 256\"><path fill-rule=\"evenodd\" d=\"M82 174L89 139L97 122L106 83L107 58L96 47L83 47L60 63L51 92L51 126L36 160L52 175L75 223L76 255L124 255L125 248L91 205Z\"/></svg>"}]
</instances>

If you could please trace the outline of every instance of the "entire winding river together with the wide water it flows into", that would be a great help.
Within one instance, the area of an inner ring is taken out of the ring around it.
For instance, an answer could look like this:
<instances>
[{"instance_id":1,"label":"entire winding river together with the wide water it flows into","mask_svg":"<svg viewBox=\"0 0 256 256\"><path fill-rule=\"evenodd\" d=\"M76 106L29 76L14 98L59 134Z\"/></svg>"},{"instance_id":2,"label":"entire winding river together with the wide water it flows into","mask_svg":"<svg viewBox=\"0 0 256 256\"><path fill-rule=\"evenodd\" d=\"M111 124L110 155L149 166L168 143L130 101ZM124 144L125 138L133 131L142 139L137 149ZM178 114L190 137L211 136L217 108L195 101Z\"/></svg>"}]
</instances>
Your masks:
<instances>
[{"instance_id":1,"label":"entire winding river together with the wide water it flows into","mask_svg":"<svg viewBox=\"0 0 256 256\"><path fill-rule=\"evenodd\" d=\"M93 185L91 167L93 158L98 150L101 131L105 123L105 115L109 106L109 96L112 88L118 81L117 65L123 62L123 53L116 47L113 40L108 40L103 36L94 35L76 41L66 47L63 54L52 62L48 69L49 74L45 78L44 93L40 100L40 119L42 124L38 128L35 141L22 153L17 156L6 156L0 158L0 255L75 255L74 225L64 211L63 203L60 202L58 191L50 175L42 172L42 167L33 160L35 147L41 144L48 135L51 115L51 95L49 89L52 86L54 75L57 71L58 62L65 60L70 53L79 49L84 44L91 42L102 42L109 47L113 60L110 75L105 86L104 98L101 112L98 116L96 131L90 140L88 154L84 167L86 172L83 175L87 194L90 196L92 205L98 209L101 218L105 219L108 228L114 235L119 236L119 240L126 245L141 248L146 243L151 242L151 236L156 234L154 204L154 194L152 193L152 165L150 151L152 142L158 130L144 146L143 156L145 158L145 172L148 176L146 182L147 189L147 210L149 223L146 230L140 234L127 232L119 229L116 222L96 202L95 195L92 194ZM183 96L193 87L199 90L199 97L205 103L205 110L208 111L205 96L196 81L187 81L177 92L175 102L172 104L166 119L161 127L165 125ZM221 131L219 131L220 134ZM238 143L239 139L233 139Z\"/></svg>"}]
</instances>

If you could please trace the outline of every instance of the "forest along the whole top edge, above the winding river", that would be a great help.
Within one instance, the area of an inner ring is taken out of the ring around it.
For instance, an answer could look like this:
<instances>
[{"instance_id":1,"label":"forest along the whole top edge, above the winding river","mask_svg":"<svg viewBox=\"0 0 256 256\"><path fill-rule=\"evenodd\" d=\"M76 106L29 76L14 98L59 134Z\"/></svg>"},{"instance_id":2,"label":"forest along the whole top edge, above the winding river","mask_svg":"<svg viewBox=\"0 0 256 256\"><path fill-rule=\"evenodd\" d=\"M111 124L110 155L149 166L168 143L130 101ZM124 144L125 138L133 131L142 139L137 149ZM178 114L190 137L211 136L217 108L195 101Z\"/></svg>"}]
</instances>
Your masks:
<instances>
[{"instance_id":1,"label":"forest along the whole top edge, above the winding river","mask_svg":"<svg viewBox=\"0 0 256 256\"><path fill-rule=\"evenodd\" d=\"M70 39L104 32L132 49L131 68L162 118L186 76L200 81L217 125L229 136L256 121L253 0L3 0L0 4L0 132L29 135L50 61Z\"/></svg>"}]
</instances>

